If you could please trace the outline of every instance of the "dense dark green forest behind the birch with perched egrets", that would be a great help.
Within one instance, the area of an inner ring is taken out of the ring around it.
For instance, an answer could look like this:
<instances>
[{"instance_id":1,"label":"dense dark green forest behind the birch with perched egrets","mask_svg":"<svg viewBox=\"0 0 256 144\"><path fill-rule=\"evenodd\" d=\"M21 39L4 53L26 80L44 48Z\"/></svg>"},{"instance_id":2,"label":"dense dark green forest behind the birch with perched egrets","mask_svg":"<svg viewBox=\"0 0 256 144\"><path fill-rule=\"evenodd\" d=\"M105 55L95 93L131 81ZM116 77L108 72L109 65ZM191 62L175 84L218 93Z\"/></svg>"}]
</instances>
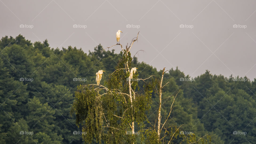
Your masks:
<instances>
[{"instance_id":1,"label":"dense dark green forest behind the birch with perched egrets","mask_svg":"<svg viewBox=\"0 0 256 144\"><path fill-rule=\"evenodd\" d=\"M0 143L84 143L76 116L70 114L75 92L79 85L95 84L98 70L106 71L101 79L104 85L122 52L105 51L101 45L88 54L71 46L54 49L47 40L31 43L22 35L3 37L0 51ZM132 66L138 68L138 78L162 75L162 70L138 62L136 57ZM169 125L184 124L181 130L197 138L208 134L211 143L256 141L256 79L227 78L208 70L191 78L177 67L164 74L167 81L163 97L179 91ZM138 87L143 91L142 81ZM157 116L158 101L152 94L147 111L150 121ZM164 111L171 102L163 101Z\"/></svg>"}]
</instances>

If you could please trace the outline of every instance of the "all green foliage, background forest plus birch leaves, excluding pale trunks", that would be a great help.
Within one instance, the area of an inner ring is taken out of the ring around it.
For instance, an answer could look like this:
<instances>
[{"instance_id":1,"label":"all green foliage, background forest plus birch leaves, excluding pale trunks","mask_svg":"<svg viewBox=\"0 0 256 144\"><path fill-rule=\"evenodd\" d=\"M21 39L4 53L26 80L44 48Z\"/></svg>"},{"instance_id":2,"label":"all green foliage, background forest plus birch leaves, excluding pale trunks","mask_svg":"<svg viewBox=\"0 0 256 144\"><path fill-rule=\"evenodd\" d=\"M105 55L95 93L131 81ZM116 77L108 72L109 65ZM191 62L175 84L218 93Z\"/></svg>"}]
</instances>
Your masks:
<instances>
[{"instance_id":1,"label":"all green foliage, background forest plus birch leaves, excluding pale trunks","mask_svg":"<svg viewBox=\"0 0 256 144\"><path fill-rule=\"evenodd\" d=\"M133 81L131 88L136 98L131 108L127 82L130 71L121 68L126 61L129 68L137 67L135 79L150 75L159 79L162 72L138 62L132 54L126 57L126 51L118 54L114 50L105 51L101 45L88 54L71 46L53 49L47 40L31 43L22 35L3 37L0 51L0 144L159 143L154 130L159 107L159 96L154 89L159 89L158 81L152 81L153 78ZM98 70L106 71L101 84L111 91L95 91L98 86L93 85L83 87L95 84ZM33 78L33 81L20 81L20 78ZM73 78L87 80L73 81ZM169 83L163 88L161 123L173 101L173 96L169 96L181 90L166 122L165 142L172 135L170 143L256 141L256 79L249 81L247 77L232 75L226 78L209 71L194 81L180 81L180 78L191 79L178 67L169 70L163 78L163 84ZM75 114L70 115L70 110ZM133 120L138 135L127 134ZM21 131L33 134L20 134ZM73 134L74 131L86 133ZM183 135L181 131L194 134ZM234 131L246 134L233 134Z\"/></svg>"}]
</instances>

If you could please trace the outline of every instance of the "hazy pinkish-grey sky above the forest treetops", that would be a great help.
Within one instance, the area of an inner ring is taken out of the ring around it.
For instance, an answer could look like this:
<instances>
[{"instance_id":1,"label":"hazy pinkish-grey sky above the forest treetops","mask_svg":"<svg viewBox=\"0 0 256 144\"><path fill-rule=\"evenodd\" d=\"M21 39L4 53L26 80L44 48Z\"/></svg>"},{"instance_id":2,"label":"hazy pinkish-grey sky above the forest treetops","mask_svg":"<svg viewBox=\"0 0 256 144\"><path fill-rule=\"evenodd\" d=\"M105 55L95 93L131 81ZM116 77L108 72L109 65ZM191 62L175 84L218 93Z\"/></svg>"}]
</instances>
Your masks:
<instances>
[{"instance_id":1,"label":"hazy pinkish-grey sky above the forest treetops","mask_svg":"<svg viewBox=\"0 0 256 144\"><path fill-rule=\"evenodd\" d=\"M0 37L21 33L31 42L48 39L51 47L71 45L88 53L99 43L104 48L114 45L117 30L123 32L122 45L140 31L131 52L144 50L136 55L138 60L158 70L178 66L195 77L207 69L212 74L246 75L253 80L255 5L253 0L0 0ZM73 28L74 24L81 28ZM119 46L111 49L121 51Z\"/></svg>"}]
</instances>

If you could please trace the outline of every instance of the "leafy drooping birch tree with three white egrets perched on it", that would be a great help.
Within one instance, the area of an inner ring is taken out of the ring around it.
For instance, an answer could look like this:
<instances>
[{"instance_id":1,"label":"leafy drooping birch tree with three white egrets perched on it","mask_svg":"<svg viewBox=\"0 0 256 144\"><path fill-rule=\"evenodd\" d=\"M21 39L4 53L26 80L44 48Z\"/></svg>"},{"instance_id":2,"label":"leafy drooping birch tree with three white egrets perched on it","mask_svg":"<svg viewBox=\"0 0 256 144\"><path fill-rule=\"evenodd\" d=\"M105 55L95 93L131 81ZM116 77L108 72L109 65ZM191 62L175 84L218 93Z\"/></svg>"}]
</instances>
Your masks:
<instances>
[{"instance_id":1,"label":"leafy drooping birch tree with three white egrets perched on it","mask_svg":"<svg viewBox=\"0 0 256 144\"><path fill-rule=\"evenodd\" d=\"M71 113L76 114L77 126L82 126L85 142L91 143L95 138L98 142L135 143L142 132L153 88L145 83L145 92L138 93L138 81L145 79L138 79L138 72L133 74L133 79L129 78L132 68L130 50L138 35L125 48L114 45L121 47L123 57L104 85L78 86Z\"/></svg>"}]
</instances>

